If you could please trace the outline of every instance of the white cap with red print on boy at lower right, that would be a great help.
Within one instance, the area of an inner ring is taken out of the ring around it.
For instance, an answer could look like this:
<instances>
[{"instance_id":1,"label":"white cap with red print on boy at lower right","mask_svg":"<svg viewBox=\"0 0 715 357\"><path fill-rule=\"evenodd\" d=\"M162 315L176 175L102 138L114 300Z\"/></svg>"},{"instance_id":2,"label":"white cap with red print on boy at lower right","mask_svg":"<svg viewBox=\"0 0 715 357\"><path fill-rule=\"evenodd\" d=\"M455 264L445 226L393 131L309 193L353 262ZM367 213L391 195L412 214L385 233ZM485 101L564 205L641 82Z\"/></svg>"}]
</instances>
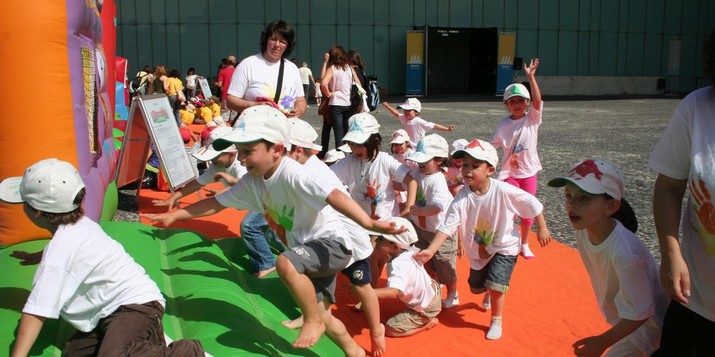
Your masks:
<instances>
[{"instance_id":1,"label":"white cap with red print on boy at lower right","mask_svg":"<svg viewBox=\"0 0 715 357\"><path fill-rule=\"evenodd\" d=\"M621 171L610 162L600 159L589 159L576 164L566 176L549 181L549 186L563 187L567 182L592 195L606 193L617 200L623 198L626 190Z\"/></svg>"}]
</instances>

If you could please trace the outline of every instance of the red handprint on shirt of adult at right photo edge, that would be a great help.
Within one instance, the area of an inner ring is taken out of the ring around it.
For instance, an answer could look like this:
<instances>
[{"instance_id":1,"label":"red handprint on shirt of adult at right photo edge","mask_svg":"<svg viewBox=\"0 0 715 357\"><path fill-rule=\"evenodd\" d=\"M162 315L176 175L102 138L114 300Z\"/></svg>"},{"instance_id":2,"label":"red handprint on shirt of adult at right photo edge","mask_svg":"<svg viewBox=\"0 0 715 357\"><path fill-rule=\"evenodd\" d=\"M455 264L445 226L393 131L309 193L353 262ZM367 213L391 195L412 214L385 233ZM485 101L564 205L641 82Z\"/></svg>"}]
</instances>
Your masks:
<instances>
[{"instance_id":1,"label":"red handprint on shirt of adult at right photo edge","mask_svg":"<svg viewBox=\"0 0 715 357\"><path fill-rule=\"evenodd\" d=\"M713 206L712 195L705 182L697 175L697 179L690 179L690 196L692 197L694 218L698 222L691 225L700 234L700 240L705 247L705 253L715 256L715 206Z\"/></svg>"}]
</instances>

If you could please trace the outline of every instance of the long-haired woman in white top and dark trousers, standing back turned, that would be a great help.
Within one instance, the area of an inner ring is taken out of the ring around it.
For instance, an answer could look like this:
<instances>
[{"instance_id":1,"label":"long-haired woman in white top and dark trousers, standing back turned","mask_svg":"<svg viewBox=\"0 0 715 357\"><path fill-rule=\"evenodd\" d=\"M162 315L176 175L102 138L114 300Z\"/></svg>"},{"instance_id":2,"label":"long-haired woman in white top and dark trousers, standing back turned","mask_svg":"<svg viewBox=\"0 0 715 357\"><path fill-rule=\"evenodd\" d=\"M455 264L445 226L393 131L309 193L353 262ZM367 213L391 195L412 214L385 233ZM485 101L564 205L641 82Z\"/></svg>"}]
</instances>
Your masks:
<instances>
[{"instance_id":1,"label":"long-haired woman in white top and dark trousers, standing back turned","mask_svg":"<svg viewBox=\"0 0 715 357\"><path fill-rule=\"evenodd\" d=\"M353 81L360 83L355 71L352 69L352 63L348 59L345 49L341 46L333 46L328 52L328 63L325 70L325 75L320 81L320 90L323 92L323 97L330 101L330 117L331 121L323 119L323 129L321 132L320 144L323 146L323 151L318 155L324 157L328 152L330 145L330 129L333 129L335 135L335 148L339 147L343 142L343 136L348 130L348 119L352 109L350 108L350 89Z\"/></svg>"}]
</instances>

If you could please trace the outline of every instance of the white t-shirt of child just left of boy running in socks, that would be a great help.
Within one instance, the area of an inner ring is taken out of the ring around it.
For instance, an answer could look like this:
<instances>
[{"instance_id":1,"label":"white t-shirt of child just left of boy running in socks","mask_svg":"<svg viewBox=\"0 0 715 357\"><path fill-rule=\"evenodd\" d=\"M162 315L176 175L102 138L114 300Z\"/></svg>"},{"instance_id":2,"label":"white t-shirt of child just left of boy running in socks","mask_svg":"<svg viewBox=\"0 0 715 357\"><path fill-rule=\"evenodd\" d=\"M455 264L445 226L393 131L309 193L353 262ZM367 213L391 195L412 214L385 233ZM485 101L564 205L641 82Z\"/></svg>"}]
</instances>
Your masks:
<instances>
[{"instance_id":1,"label":"white t-shirt of child just left of boy running in socks","mask_svg":"<svg viewBox=\"0 0 715 357\"><path fill-rule=\"evenodd\" d=\"M417 181L415 205L418 207L433 205L439 207L438 214L433 216L412 216L412 222L418 227L434 233L447 214L449 204L452 203L452 194L449 193L447 180L441 171L431 175L423 175L420 173L419 167L413 168L410 175Z\"/></svg>"}]
</instances>

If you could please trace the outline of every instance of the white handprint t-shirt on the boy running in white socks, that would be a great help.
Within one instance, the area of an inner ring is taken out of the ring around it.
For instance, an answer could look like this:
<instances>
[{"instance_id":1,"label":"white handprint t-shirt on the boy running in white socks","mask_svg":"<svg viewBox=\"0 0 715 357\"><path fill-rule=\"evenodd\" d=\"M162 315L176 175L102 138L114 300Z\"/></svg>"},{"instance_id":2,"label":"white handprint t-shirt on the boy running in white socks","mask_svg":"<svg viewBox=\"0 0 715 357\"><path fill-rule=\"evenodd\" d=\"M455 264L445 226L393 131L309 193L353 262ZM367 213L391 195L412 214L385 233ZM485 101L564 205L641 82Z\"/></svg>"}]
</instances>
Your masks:
<instances>
[{"instance_id":1,"label":"white handprint t-shirt on the boy running in white socks","mask_svg":"<svg viewBox=\"0 0 715 357\"><path fill-rule=\"evenodd\" d=\"M528 192L489 178L489 190L481 196L465 186L454 197L437 230L453 236L459 227L472 269L483 269L496 253L519 254L519 227L514 217L534 218L544 206ZM486 243L489 258L479 258L479 240Z\"/></svg>"}]
</instances>

